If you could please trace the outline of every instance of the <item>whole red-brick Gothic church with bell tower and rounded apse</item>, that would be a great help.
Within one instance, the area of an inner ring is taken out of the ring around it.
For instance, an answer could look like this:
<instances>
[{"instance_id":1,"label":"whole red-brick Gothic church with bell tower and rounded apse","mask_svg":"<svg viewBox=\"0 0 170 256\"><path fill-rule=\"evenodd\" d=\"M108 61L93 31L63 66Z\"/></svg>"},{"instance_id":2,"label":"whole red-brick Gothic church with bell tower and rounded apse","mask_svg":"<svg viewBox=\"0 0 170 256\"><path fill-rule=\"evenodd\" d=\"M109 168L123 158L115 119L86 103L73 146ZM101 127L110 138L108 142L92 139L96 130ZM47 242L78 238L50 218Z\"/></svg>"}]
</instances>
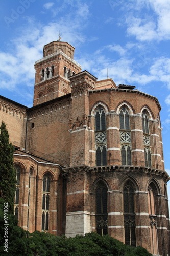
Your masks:
<instances>
[{"instance_id":1,"label":"whole red-brick Gothic church with bell tower and rounded apse","mask_svg":"<svg viewBox=\"0 0 170 256\"><path fill-rule=\"evenodd\" d=\"M81 71L74 51L62 41L44 46L32 108L0 97L15 147L18 225L68 237L96 231L170 255L159 101Z\"/></svg>"}]
</instances>

